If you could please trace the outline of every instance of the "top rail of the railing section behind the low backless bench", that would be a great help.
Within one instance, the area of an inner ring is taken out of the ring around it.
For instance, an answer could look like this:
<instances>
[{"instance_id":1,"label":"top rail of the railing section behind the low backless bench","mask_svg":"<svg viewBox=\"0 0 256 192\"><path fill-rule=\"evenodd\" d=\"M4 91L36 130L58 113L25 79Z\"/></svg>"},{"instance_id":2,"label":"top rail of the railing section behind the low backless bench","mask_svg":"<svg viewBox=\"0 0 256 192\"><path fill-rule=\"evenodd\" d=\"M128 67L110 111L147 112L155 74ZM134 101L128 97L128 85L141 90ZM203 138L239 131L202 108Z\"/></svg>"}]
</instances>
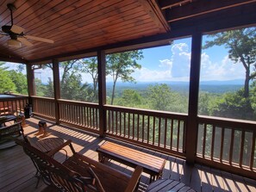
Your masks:
<instances>
[{"instance_id":1,"label":"top rail of the railing section behind the low backless bench","mask_svg":"<svg viewBox=\"0 0 256 192\"><path fill-rule=\"evenodd\" d=\"M127 108L127 107L120 107L120 106L112 106L112 105L104 105L104 108L114 111L122 111L124 113L131 113L131 114L138 114L138 115L149 115L149 116L156 116L160 118L172 118L177 120L186 121L188 115L181 114L181 113L173 113L167 111L157 111L157 110L150 110L150 109L139 109L139 108Z\"/></svg>"}]
</instances>

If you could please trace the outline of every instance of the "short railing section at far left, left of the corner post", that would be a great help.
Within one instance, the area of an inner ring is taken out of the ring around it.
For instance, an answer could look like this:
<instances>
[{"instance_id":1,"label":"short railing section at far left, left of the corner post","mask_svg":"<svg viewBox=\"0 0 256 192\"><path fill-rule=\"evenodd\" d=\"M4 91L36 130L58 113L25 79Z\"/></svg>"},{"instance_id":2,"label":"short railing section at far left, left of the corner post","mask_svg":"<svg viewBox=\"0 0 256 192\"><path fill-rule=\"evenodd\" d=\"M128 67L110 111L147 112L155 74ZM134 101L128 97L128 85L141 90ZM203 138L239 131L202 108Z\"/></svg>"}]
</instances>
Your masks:
<instances>
[{"instance_id":1,"label":"short railing section at far left, left of the corner post","mask_svg":"<svg viewBox=\"0 0 256 192\"><path fill-rule=\"evenodd\" d=\"M8 98L0 98L1 115L18 115L24 112L24 108L28 103L28 96L13 96Z\"/></svg>"}]
</instances>

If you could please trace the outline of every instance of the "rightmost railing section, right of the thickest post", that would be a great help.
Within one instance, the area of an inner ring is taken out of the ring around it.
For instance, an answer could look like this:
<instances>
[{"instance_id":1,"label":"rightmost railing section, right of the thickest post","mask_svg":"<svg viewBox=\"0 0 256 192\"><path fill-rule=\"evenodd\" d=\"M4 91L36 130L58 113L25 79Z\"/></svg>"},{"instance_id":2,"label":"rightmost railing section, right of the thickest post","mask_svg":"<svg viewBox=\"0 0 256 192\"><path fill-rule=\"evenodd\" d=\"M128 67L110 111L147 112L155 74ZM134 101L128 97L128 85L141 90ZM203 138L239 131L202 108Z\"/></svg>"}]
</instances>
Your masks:
<instances>
[{"instance_id":1,"label":"rightmost railing section, right of the thickest post","mask_svg":"<svg viewBox=\"0 0 256 192\"><path fill-rule=\"evenodd\" d=\"M197 161L255 174L256 122L198 117Z\"/></svg>"}]
</instances>

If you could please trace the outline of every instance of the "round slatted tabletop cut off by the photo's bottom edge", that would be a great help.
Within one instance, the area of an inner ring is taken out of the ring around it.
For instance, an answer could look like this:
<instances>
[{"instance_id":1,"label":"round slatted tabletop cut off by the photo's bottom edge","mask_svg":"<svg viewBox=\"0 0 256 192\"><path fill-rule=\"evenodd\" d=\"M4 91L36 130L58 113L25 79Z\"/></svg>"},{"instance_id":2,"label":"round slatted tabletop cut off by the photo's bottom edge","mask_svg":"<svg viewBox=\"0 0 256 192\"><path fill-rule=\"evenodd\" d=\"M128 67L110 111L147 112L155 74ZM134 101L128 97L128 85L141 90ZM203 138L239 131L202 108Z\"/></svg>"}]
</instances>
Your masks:
<instances>
[{"instance_id":1,"label":"round slatted tabletop cut off by the photo's bottom edge","mask_svg":"<svg viewBox=\"0 0 256 192\"><path fill-rule=\"evenodd\" d=\"M180 192L196 192L184 183L172 179L159 179L150 183L147 187L147 192L167 192L167 191L180 191Z\"/></svg>"}]
</instances>

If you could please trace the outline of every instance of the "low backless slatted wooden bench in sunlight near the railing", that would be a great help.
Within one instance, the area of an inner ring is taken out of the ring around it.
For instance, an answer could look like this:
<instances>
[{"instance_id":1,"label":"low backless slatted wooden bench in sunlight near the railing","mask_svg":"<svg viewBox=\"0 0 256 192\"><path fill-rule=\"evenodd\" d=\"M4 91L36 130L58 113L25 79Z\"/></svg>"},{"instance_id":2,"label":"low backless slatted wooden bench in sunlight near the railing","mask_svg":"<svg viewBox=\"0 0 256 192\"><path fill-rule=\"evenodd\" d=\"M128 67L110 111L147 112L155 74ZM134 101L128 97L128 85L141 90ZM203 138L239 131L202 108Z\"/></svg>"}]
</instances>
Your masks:
<instances>
[{"instance_id":1,"label":"low backless slatted wooden bench in sunlight near the railing","mask_svg":"<svg viewBox=\"0 0 256 192\"><path fill-rule=\"evenodd\" d=\"M150 182L162 176L166 162L164 158L155 157L146 152L140 152L109 141L99 146L97 152L99 153L99 161L102 163L104 163L105 158L109 158L131 167L141 166L143 171L150 175Z\"/></svg>"}]
</instances>

